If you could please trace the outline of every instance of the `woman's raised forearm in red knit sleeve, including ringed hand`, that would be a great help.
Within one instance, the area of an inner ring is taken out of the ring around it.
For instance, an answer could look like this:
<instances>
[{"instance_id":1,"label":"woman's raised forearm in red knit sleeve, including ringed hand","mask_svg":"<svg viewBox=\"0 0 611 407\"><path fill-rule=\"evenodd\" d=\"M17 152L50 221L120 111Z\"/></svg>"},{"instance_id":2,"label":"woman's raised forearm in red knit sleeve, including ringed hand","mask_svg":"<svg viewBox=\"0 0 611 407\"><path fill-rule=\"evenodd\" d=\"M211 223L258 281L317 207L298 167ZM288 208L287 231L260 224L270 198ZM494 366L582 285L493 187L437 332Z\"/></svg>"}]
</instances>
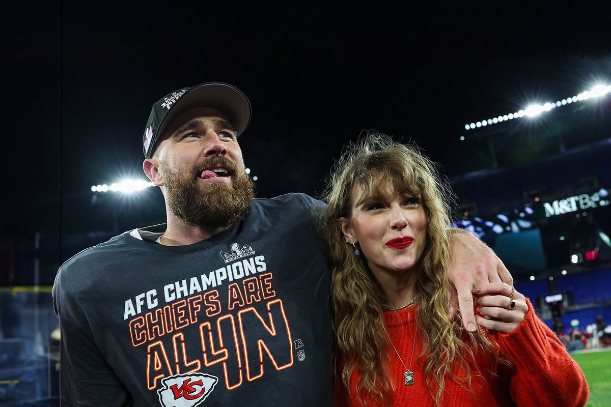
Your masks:
<instances>
[{"instance_id":1,"label":"woman's raised forearm in red knit sleeve, including ringed hand","mask_svg":"<svg viewBox=\"0 0 611 407\"><path fill-rule=\"evenodd\" d=\"M485 317L478 315L477 322L499 332L500 350L513 362L511 399L518 406L584 406L589 395L584 372L530 301L517 291L508 297L508 289L503 283L481 287L478 312Z\"/></svg>"}]
</instances>

